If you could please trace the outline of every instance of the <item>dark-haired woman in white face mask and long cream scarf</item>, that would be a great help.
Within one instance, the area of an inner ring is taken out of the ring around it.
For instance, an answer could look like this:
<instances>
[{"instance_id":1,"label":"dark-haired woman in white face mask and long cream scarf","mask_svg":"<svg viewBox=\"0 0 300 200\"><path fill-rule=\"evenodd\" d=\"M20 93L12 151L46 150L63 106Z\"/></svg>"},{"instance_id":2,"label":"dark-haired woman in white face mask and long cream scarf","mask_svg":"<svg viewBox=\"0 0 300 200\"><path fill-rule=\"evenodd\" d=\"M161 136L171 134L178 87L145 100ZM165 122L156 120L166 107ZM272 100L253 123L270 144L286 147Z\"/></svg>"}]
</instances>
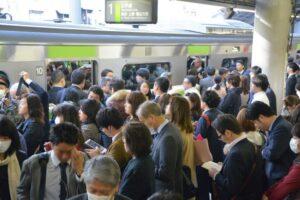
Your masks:
<instances>
[{"instance_id":1,"label":"dark-haired woman in white face mask and long cream scarf","mask_svg":"<svg viewBox=\"0 0 300 200\"><path fill-rule=\"evenodd\" d=\"M21 167L26 154L20 151L18 131L6 116L0 116L0 199L17 199Z\"/></svg>"}]
</instances>

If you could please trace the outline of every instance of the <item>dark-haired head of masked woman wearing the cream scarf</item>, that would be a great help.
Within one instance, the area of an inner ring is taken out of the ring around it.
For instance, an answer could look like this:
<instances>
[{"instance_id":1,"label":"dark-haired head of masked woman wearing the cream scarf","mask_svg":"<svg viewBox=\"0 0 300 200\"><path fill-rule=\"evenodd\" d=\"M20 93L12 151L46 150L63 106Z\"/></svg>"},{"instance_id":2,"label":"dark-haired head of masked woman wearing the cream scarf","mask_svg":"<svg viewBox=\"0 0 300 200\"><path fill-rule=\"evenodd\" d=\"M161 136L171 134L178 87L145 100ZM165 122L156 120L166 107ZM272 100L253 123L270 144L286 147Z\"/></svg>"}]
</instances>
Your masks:
<instances>
[{"instance_id":1,"label":"dark-haired head of masked woman wearing the cream scarf","mask_svg":"<svg viewBox=\"0 0 300 200\"><path fill-rule=\"evenodd\" d=\"M16 126L5 115L0 115L0 154L11 156L20 149Z\"/></svg>"}]
</instances>

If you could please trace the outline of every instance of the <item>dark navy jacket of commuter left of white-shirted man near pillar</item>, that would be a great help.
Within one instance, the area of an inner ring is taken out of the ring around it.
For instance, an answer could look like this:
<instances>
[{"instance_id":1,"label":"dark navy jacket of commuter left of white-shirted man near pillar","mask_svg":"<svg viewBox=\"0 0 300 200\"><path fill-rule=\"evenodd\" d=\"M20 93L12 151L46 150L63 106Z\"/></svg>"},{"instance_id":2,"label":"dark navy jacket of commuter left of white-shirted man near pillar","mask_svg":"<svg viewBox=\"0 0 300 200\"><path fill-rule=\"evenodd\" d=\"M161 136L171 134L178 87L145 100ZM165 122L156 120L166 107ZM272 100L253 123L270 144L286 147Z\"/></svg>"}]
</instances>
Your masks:
<instances>
[{"instance_id":1,"label":"dark navy jacket of commuter left of white-shirted man near pillar","mask_svg":"<svg viewBox=\"0 0 300 200\"><path fill-rule=\"evenodd\" d=\"M218 108L226 114L237 116L242 104L241 88L231 88L225 97L222 98Z\"/></svg>"}]
</instances>

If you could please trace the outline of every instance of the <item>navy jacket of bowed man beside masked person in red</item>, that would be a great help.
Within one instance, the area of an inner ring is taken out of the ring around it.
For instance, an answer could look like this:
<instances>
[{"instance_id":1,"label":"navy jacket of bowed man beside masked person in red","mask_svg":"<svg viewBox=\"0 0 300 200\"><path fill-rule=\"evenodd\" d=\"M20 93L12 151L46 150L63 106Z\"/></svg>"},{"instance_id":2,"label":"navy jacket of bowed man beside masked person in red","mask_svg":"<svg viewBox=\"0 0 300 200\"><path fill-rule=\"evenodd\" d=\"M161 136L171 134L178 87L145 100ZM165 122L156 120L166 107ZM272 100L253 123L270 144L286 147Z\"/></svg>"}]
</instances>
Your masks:
<instances>
[{"instance_id":1,"label":"navy jacket of bowed man beside masked person in red","mask_svg":"<svg viewBox=\"0 0 300 200\"><path fill-rule=\"evenodd\" d=\"M269 186L288 173L295 158L289 146L292 137L291 129L292 125L279 116L268 133L262 156L266 160L265 171Z\"/></svg>"}]
</instances>

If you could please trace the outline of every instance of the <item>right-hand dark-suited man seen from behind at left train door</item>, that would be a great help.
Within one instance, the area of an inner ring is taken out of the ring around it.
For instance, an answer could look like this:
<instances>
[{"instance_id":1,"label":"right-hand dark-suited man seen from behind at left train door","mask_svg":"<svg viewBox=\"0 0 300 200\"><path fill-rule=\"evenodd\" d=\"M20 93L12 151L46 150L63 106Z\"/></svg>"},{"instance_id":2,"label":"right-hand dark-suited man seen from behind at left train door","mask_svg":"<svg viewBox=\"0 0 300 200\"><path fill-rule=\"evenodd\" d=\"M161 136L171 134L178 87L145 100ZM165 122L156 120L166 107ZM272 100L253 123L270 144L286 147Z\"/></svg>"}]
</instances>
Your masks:
<instances>
[{"instance_id":1,"label":"right-hand dark-suited man seen from behind at left train door","mask_svg":"<svg viewBox=\"0 0 300 200\"><path fill-rule=\"evenodd\" d=\"M79 101L87 98L87 94L83 91L85 85L85 74L83 70L76 69L71 74L71 82L72 85L64 90L61 95L60 102L69 101L68 99L72 94L72 96L76 95L73 101L76 105L79 105Z\"/></svg>"}]
</instances>

